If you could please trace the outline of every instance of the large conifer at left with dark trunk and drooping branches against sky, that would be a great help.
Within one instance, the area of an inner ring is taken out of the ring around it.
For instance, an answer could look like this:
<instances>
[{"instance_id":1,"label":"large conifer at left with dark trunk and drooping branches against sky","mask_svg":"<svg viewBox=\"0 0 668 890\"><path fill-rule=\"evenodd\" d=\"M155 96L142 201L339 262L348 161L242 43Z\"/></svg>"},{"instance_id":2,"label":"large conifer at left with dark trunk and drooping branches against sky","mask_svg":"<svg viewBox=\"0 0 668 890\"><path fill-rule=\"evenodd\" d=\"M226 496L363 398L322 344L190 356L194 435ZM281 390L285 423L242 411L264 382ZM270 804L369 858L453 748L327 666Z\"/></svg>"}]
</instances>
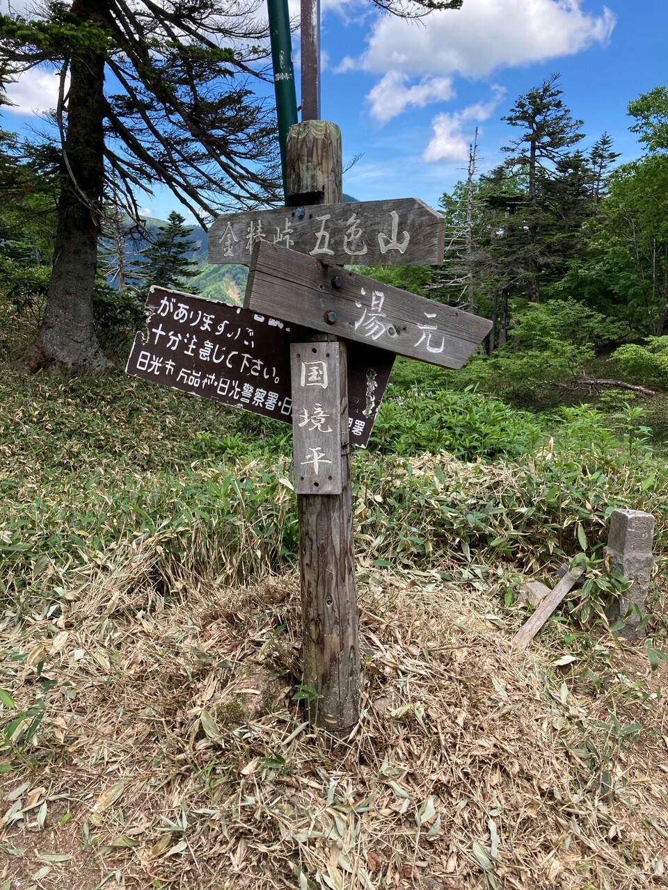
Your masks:
<instances>
[{"instance_id":1,"label":"large conifer at left with dark trunk and drooping branches against sky","mask_svg":"<svg viewBox=\"0 0 668 890\"><path fill-rule=\"evenodd\" d=\"M368 0L407 17L460 0ZM60 197L45 319L29 367L101 369L93 287L109 182L166 184L209 213L280 199L273 109L254 94L266 56L261 0L47 0L43 18L0 16L0 80L60 74Z\"/></svg>"}]
</instances>

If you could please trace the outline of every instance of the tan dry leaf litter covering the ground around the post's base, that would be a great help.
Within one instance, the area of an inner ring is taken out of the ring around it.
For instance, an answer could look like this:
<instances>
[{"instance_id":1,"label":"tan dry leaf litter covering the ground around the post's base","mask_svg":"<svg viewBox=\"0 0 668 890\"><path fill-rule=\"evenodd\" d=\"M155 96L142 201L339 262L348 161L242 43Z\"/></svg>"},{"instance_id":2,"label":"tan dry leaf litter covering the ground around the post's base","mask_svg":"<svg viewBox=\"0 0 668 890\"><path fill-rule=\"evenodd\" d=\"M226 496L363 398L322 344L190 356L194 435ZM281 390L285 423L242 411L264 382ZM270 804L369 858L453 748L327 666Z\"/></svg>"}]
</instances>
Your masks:
<instances>
[{"instance_id":1,"label":"tan dry leaf litter covering the ground around the post's base","mask_svg":"<svg viewBox=\"0 0 668 890\"><path fill-rule=\"evenodd\" d=\"M641 649L552 624L514 654L501 575L362 574L362 719L328 748L292 700L294 580L166 595L157 546L4 620L4 685L43 719L0 776L3 890L668 886Z\"/></svg>"}]
</instances>

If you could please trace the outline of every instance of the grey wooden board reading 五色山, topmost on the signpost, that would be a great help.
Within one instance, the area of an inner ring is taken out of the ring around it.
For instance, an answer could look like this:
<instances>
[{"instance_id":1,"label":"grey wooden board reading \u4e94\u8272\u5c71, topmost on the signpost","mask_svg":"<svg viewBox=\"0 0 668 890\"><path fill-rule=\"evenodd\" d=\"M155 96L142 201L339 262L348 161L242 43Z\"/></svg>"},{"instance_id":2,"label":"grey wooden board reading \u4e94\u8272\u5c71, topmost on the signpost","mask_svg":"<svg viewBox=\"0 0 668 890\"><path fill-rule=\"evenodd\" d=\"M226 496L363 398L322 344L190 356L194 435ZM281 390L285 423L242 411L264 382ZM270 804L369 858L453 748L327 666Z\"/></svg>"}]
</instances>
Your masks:
<instances>
[{"instance_id":1,"label":"grey wooden board reading \u4e94\u8272\u5c71, topmost on the signpost","mask_svg":"<svg viewBox=\"0 0 668 890\"><path fill-rule=\"evenodd\" d=\"M437 265L445 221L417 198L354 201L219 216L208 231L209 263L249 265L260 241L337 265Z\"/></svg>"}]
</instances>

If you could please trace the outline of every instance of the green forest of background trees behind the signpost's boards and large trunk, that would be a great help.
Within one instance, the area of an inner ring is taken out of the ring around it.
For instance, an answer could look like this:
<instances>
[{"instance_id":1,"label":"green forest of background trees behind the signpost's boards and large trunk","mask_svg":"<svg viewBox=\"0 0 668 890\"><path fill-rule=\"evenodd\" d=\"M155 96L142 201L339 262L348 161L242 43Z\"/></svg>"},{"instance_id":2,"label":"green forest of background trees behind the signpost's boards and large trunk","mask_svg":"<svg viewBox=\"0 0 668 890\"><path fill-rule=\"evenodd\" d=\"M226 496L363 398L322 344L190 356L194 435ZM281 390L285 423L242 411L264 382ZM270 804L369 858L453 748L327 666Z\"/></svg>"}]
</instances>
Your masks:
<instances>
[{"instance_id":1,"label":"green forest of background trees behind the signpost's boards and large trunk","mask_svg":"<svg viewBox=\"0 0 668 890\"><path fill-rule=\"evenodd\" d=\"M615 388L629 398L660 393L668 384L668 90L630 101L639 157L622 165L607 134L587 138L556 75L518 97L503 120L503 163L479 173L471 145L467 180L441 199L444 266L360 271L493 320L485 349L452 386L475 384L537 409ZM38 336L47 305L59 198L47 155L2 134L0 276L25 341L15 353ZM102 343L113 352L141 324L151 284L240 304L245 267L205 258L205 231L176 211L166 222L132 222L121 206L105 205L93 289ZM661 401L647 403L651 413Z\"/></svg>"}]
</instances>

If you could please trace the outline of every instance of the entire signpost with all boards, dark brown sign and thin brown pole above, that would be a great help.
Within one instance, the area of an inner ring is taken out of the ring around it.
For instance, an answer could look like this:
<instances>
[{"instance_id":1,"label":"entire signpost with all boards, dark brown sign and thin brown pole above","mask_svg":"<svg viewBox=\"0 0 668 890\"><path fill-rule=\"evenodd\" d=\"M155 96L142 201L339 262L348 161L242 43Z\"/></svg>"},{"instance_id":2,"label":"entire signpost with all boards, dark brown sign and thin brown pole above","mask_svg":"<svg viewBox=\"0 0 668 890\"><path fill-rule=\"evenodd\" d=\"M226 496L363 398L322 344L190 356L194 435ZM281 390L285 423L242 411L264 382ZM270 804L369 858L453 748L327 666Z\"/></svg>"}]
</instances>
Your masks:
<instances>
[{"instance_id":1,"label":"entire signpost with all boards, dark brown sign and thin brown pole above","mask_svg":"<svg viewBox=\"0 0 668 890\"><path fill-rule=\"evenodd\" d=\"M345 738L360 692L351 441L368 439L396 354L460 368L492 323L342 268L443 263L444 219L415 198L343 203L340 131L317 119L318 0L301 11L304 114L288 135L288 206L221 216L208 233L210 263L250 264L246 308L153 288L127 371L291 416L308 714Z\"/></svg>"}]
</instances>

